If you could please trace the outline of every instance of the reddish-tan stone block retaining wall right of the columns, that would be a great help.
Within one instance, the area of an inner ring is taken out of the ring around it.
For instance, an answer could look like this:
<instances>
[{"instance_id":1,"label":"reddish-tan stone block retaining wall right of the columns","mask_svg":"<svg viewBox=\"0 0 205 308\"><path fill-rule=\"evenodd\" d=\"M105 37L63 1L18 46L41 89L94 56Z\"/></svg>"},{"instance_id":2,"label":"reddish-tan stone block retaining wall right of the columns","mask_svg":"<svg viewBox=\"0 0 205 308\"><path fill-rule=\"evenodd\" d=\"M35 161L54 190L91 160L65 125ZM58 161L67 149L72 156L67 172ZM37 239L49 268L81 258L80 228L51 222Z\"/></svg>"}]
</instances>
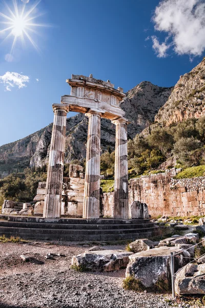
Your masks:
<instances>
[{"instance_id":1,"label":"reddish-tan stone block retaining wall right of the columns","mask_svg":"<svg viewBox=\"0 0 205 308\"><path fill-rule=\"evenodd\" d=\"M173 179L180 169L129 181L129 205L147 203L154 216L205 215L205 177Z\"/></svg>"}]
</instances>

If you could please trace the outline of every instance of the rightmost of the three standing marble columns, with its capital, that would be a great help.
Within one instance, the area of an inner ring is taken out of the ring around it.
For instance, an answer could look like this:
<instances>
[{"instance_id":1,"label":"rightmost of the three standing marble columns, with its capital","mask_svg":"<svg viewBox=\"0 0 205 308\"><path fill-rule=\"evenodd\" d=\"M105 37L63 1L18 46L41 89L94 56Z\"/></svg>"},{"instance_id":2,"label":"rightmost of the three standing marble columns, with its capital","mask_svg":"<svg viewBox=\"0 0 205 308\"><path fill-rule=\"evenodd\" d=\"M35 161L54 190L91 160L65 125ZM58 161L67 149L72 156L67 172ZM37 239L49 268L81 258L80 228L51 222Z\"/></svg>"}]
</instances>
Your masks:
<instances>
[{"instance_id":1,"label":"rightmost of the three standing marble columns, with its capital","mask_svg":"<svg viewBox=\"0 0 205 308\"><path fill-rule=\"evenodd\" d=\"M129 219L128 205L128 145L126 119L112 121L116 125L114 219Z\"/></svg>"}]
</instances>

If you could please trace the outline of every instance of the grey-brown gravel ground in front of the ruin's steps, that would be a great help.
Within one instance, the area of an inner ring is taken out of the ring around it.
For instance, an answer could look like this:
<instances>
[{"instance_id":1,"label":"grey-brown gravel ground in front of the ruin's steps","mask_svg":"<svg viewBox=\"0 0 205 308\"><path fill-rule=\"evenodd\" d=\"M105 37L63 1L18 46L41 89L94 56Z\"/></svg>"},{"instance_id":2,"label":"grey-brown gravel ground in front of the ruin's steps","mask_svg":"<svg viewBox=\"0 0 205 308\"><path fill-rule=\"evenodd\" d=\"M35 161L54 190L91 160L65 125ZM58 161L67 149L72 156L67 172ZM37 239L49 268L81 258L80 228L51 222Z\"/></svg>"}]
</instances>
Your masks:
<instances>
[{"instance_id":1,"label":"grey-brown gravel ground in front of the ruin's steps","mask_svg":"<svg viewBox=\"0 0 205 308\"><path fill-rule=\"evenodd\" d=\"M124 249L125 246L105 246ZM125 291L125 270L80 273L70 268L73 255L86 247L46 242L0 244L0 307L60 308L167 308L198 307L171 301L171 295ZM61 254L46 260L47 253ZM31 257L24 262L20 255Z\"/></svg>"}]
</instances>

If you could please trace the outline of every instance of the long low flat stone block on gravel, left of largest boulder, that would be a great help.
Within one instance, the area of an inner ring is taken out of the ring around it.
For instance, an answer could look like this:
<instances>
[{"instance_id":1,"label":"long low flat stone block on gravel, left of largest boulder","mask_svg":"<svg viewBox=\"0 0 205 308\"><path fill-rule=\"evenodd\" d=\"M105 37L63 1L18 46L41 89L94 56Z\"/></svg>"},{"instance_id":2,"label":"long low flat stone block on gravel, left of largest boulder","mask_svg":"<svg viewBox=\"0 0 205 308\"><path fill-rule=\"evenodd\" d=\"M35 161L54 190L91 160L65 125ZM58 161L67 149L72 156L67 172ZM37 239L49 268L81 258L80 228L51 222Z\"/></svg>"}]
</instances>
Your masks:
<instances>
[{"instance_id":1,"label":"long low flat stone block on gravel, left of largest boulder","mask_svg":"<svg viewBox=\"0 0 205 308\"><path fill-rule=\"evenodd\" d=\"M90 271L116 271L128 265L131 252L121 250L86 251L73 256L71 264Z\"/></svg>"}]
</instances>

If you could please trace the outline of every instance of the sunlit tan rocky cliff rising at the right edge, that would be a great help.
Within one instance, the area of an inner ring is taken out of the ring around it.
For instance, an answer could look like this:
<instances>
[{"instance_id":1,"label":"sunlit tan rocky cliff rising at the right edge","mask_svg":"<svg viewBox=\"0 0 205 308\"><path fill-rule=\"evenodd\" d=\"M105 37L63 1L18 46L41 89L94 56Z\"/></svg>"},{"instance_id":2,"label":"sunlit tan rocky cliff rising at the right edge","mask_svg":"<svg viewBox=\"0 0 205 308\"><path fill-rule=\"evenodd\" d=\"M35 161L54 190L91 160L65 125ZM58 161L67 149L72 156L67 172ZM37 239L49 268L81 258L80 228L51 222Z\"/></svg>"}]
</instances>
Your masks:
<instances>
[{"instance_id":1,"label":"sunlit tan rocky cliff rising at the right edge","mask_svg":"<svg viewBox=\"0 0 205 308\"><path fill-rule=\"evenodd\" d=\"M180 76L167 103L159 109L155 121L169 126L183 119L205 114L205 57L191 72Z\"/></svg>"}]
</instances>

